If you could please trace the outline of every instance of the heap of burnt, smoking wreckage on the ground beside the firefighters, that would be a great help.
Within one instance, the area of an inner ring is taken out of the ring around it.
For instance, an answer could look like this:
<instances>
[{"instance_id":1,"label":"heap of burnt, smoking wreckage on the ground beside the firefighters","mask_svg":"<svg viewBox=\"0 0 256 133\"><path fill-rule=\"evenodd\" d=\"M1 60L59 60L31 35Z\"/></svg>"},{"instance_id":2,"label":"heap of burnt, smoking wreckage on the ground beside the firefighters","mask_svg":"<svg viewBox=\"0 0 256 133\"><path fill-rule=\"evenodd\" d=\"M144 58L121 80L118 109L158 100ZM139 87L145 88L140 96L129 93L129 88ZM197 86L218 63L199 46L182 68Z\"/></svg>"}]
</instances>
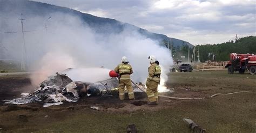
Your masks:
<instances>
[{"instance_id":1,"label":"heap of burnt, smoking wreckage on the ground beside the firefighters","mask_svg":"<svg viewBox=\"0 0 256 133\"><path fill-rule=\"evenodd\" d=\"M143 98L146 94L137 87L138 85L132 86L135 97ZM62 101L76 102L80 97L103 95L118 96L118 78L114 77L95 83L86 83L73 81L65 73L56 72L56 75L50 76L39 84L35 91L28 93L25 97L7 101L5 104L21 105L43 102L45 103L44 107L49 107L63 104Z\"/></svg>"}]
</instances>

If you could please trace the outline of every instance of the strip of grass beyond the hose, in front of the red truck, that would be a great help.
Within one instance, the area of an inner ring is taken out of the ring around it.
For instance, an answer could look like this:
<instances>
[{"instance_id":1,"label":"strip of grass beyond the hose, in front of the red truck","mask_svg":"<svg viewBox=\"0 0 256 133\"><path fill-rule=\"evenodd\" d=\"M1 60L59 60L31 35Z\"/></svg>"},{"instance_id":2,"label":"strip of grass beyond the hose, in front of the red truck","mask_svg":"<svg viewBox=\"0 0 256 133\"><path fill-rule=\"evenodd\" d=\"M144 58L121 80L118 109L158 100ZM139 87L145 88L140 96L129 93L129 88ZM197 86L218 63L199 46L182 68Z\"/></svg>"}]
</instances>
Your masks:
<instances>
[{"instance_id":1,"label":"strip of grass beyond the hose, in front of the red truck","mask_svg":"<svg viewBox=\"0 0 256 133\"><path fill-rule=\"evenodd\" d=\"M192 90L232 92L256 90L256 75L249 73L230 75L227 71L195 71L170 73L166 83L171 87L190 86Z\"/></svg>"}]
</instances>

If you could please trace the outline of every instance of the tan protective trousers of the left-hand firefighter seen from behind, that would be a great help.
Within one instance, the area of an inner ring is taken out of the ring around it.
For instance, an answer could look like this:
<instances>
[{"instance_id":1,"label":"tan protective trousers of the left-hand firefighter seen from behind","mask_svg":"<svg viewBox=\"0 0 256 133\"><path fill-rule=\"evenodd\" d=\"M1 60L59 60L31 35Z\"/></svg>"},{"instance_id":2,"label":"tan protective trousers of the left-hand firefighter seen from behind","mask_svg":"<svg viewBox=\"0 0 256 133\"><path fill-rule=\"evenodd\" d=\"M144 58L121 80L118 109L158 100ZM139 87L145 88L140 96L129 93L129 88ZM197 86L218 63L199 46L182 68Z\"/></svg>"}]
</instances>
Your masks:
<instances>
[{"instance_id":1,"label":"tan protective trousers of the left-hand firefighter seen from behind","mask_svg":"<svg viewBox=\"0 0 256 133\"><path fill-rule=\"evenodd\" d=\"M120 83L118 86L119 89L119 99L124 100L124 87L126 86L129 99L134 99L134 93L132 89L132 82L131 79L120 79Z\"/></svg>"}]
</instances>

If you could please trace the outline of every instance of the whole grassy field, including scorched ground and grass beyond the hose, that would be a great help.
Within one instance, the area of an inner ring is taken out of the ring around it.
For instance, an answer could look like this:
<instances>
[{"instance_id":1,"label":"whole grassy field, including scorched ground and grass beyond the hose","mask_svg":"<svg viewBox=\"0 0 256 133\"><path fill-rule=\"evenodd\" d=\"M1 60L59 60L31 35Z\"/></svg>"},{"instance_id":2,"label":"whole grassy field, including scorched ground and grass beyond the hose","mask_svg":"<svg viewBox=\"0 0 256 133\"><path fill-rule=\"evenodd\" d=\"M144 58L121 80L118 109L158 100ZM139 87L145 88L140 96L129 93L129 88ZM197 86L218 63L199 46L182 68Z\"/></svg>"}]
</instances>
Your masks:
<instances>
[{"instance_id":1,"label":"whole grassy field, including scorched ground and grass beyond the hose","mask_svg":"<svg viewBox=\"0 0 256 133\"><path fill-rule=\"evenodd\" d=\"M170 73L166 85L174 88L175 92L168 94L172 97L206 97L256 91L256 76L228 75L226 71L176 72ZM207 132L256 132L255 101L256 92L248 92L204 100L160 98L160 104L154 107L134 106L129 100L117 98L84 98L49 108L39 104L3 105L0 132L126 132L132 123L139 132L190 132L183 118L192 119ZM102 110L92 110L92 105Z\"/></svg>"}]
</instances>

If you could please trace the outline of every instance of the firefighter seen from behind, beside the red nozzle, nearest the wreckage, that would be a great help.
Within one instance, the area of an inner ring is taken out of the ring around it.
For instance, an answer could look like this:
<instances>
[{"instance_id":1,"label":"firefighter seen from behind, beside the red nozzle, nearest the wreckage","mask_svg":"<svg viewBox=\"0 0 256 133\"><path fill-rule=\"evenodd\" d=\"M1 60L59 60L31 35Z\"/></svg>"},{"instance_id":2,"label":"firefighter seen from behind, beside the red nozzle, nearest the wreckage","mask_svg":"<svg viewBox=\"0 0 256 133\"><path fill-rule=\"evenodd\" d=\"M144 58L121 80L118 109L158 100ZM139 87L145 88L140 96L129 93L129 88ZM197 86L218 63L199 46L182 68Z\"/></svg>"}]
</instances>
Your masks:
<instances>
[{"instance_id":1,"label":"firefighter seen from behind, beside the red nozzle, nearest the wreckage","mask_svg":"<svg viewBox=\"0 0 256 133\"><path fill-rule=\"evenodd\" d=\"M128 64L127 57L122 57L122 63L117 65L114 69L115 72L119 74L119 99L124 100L124 87L126 86L129 99L134 99L134 93L132 89L131 77L130 75L133 73L132 67Z\"/></svg>"}]
</instances>

